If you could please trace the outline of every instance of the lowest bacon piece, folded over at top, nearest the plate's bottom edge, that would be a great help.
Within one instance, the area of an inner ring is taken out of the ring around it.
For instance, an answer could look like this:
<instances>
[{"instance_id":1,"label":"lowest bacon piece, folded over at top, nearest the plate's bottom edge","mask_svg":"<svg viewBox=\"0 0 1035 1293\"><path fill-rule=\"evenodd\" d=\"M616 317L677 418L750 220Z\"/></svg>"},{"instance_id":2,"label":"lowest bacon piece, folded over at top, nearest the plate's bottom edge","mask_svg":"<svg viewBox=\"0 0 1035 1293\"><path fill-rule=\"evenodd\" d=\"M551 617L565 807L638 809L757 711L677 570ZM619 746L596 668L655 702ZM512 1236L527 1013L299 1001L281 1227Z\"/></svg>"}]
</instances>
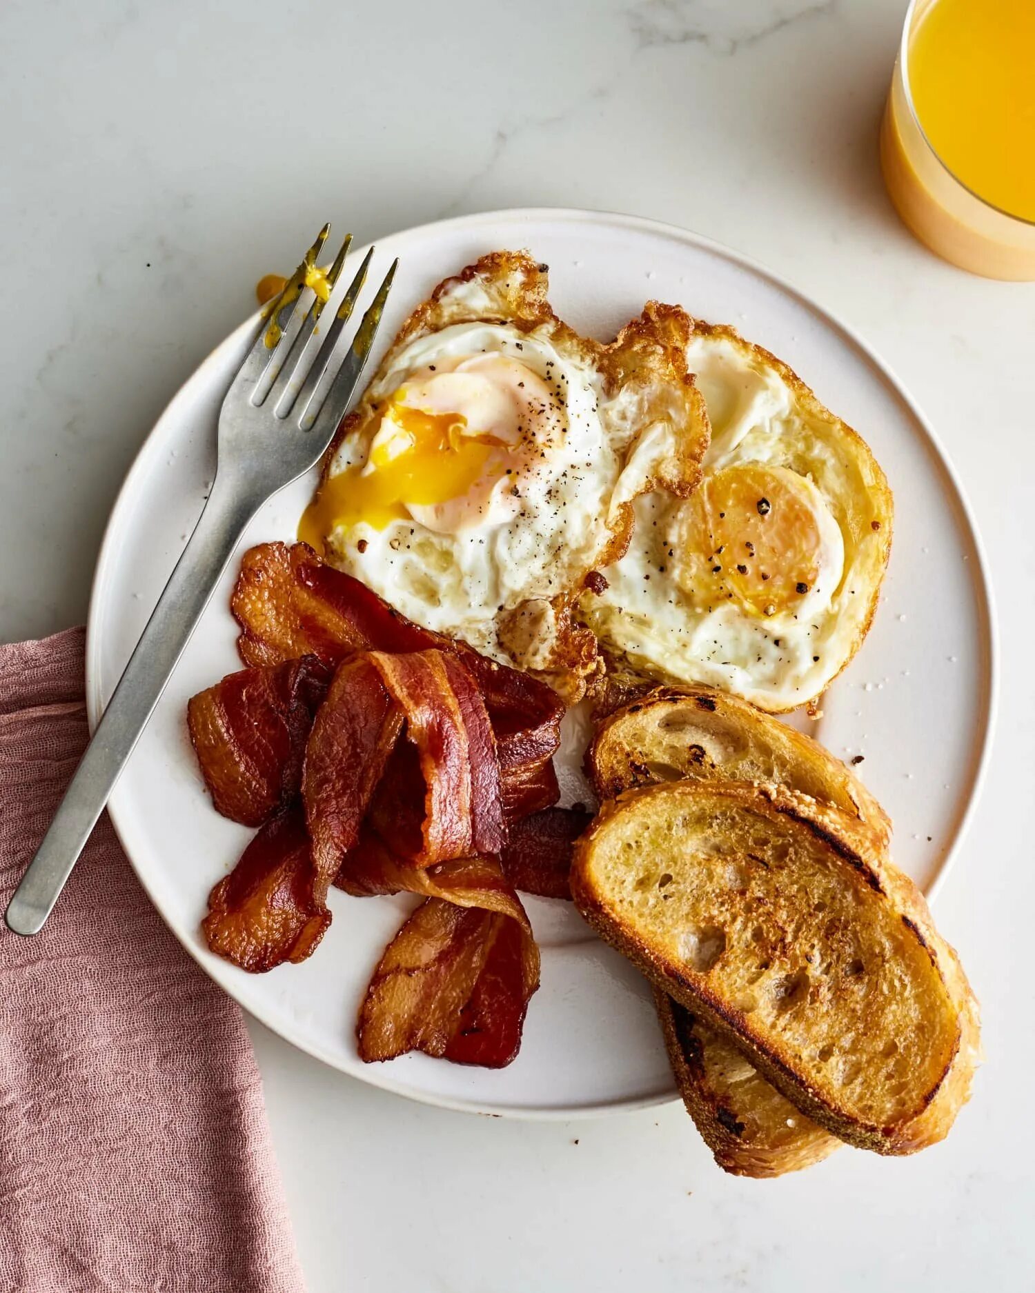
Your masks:
<instances>
[{"instance_id":1,"label":"lowest bacon piece, folded over at top, nearest the plate's bottom edge","mask_svg":"<svg viewBox=\"0 0 1035 1293\"><path fill-rule=\"evenodd\" d=\"M426 870L395 864L392 875L383 850L369 862L382 884L432 896L374 971L360 1009L361 1059L423 1050L459 1064L510 1064L539 983L539 953L498 864L479 857Z\"/></svg>"}]
</instances>

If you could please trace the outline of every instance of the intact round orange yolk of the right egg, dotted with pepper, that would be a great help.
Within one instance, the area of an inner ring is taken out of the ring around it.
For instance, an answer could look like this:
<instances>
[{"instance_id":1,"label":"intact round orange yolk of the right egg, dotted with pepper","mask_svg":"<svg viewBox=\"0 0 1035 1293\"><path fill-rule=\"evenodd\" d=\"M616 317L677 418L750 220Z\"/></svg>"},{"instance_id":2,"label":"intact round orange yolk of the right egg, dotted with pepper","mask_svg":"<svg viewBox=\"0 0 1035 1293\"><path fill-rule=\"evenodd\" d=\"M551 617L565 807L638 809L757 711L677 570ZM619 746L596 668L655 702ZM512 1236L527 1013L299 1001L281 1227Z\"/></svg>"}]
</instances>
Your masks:
<instances>
[{"instance_id":1,"label":"intact round orange yolk of the right egg, dotted with pepper","mask_svg":"<svg viewBox=\"0 0 1035 1293\"><path fill-rule=\"evenodd\" d=\"M837 522L815 485L746 463L705 476L682 509L681 583L699 603L732 600L753 615L794 613L844 565Z\"/></svg>"}]
</instances>

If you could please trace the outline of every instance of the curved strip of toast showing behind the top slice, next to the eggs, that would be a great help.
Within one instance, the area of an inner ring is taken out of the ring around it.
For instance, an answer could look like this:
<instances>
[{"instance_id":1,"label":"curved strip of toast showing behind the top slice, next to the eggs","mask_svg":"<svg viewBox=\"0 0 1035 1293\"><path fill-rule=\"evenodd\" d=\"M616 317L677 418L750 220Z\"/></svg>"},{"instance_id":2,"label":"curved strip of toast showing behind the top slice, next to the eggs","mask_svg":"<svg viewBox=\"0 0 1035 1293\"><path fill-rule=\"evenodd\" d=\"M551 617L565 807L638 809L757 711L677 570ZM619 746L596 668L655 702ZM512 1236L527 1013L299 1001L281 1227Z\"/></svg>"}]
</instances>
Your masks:
<instances>
[{"instance_id":1,"label":"curved strip of toast showing behind the top slice, next to the eggs","mask_svg":"<svg viewBox=\"0 0 1035 1293\"><path fill-rule=\"evenodd\" d=\"M712 687L659 687L616 710L586 750L598 798L659 781L775 781L858 817L888 847L891 822L811 737Z\"/></svg>"}]
</instances>

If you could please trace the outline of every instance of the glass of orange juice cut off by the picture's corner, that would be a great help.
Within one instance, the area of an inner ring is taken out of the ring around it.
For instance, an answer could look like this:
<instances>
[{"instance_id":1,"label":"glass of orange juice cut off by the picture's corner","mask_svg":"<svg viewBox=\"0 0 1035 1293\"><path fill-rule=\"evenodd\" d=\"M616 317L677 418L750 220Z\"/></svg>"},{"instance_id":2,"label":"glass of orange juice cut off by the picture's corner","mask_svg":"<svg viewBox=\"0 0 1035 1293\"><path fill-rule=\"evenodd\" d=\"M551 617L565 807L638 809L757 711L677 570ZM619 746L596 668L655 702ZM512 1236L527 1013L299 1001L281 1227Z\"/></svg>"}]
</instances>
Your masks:
<instances>
[{"instance_id":1,"label":"glass of orange juice cut off by the picture's corner","mask_svg":"<svg viewBox=\"0 0 1035 1293\"><path fill-rule=\"evenodd\" d=\"M881 166L932 251L1035 279L1035 0L912 0Z\"/></svg>"}]
</instances>

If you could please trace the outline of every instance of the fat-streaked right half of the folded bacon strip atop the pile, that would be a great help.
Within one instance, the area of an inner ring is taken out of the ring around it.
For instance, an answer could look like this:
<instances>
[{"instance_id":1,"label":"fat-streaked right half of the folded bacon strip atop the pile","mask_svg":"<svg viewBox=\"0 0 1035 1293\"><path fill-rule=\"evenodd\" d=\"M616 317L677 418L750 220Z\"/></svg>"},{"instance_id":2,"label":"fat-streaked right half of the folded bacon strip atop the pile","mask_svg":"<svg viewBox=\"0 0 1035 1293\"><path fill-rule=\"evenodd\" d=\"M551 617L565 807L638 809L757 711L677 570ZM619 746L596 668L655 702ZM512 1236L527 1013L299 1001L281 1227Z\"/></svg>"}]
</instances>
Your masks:
<instances>
[{"instance_id":1,"label":"fat-streaked right half of the folded bacon strip atop the pile","mask_svg":"<svg viewBox=\"0 0 1035 1293\"><path fill-rule=\"evenodd\" d=\"M406 716L424 780L420 847L430 866L468 853L498 853L506 840L499 764L489 715L474 679L455 656L440 650L388 656L374 666ZM400 782L397 776L389 785Z\"/></svg>"}]
</instances>

